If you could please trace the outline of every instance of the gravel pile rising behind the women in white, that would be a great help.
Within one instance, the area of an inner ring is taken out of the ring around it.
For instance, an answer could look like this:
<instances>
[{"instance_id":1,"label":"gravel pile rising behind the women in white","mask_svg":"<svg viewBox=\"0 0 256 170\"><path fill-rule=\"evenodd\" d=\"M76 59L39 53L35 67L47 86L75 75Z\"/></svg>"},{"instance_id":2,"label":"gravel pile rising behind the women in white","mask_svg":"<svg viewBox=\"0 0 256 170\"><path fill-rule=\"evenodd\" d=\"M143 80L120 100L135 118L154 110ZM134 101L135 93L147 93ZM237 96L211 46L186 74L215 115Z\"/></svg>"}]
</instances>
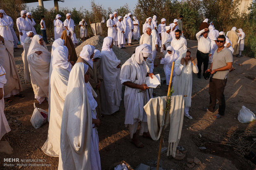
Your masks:
<instances>
[{"instance_id":1,"label":"gravel pile rising behind the women in white","mask_svg":"<svg viewBox=\"0 0 256 170\"><path fill-rule=\"evenodd\" d=\"M79 45L78 47L76 47L76 54L77 56L79 56L79 54L81 53L83 46L85 45L91 45L91 46L95 46L95 49L98 49L101 51L102 48L102 44L103 44L103 37L101 37L100 35L97 36L93 36L90 39L87 39L86 41L84 41L81 45ZM112 47L114 53L116 54L116 57L121 60L121 63L125 63L126 60L128 60L128 58L130 58L131 56L126 53L125 51L123 51L122 49L118 48L117 46L113 46Z\"/></svg>"}]
</instances>

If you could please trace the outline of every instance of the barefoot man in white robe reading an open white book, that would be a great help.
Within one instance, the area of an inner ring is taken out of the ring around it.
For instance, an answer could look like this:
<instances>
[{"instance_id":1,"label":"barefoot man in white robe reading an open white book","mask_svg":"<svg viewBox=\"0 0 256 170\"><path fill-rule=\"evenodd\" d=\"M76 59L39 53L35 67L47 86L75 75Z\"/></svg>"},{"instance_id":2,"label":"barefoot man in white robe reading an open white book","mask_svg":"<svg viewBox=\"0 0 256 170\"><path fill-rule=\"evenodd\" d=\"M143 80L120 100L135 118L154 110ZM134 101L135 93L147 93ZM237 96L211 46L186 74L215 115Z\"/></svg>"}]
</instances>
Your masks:
<instances>
[{"instance_id":1,"label":"barefoot man in white robe reading an open white book","mask_svg":"<svg viewBox=\"0 0 256 170\"><path fill-rule=\"evenodd\" d=\"M129 126L130 138L136 147L144 147L137 137L137 126L140 123L139 135L149 137L147 115L143 106L147 103L146 92L149 89L145 84L147 68L145 60L151 55L151 47L142 44L135 49L132 55L122 66L120 80L126 86L124 92L124 106L126 109L125 122ZM142 92L141 92L142 91Z\"/></svg>"}]
</instances>

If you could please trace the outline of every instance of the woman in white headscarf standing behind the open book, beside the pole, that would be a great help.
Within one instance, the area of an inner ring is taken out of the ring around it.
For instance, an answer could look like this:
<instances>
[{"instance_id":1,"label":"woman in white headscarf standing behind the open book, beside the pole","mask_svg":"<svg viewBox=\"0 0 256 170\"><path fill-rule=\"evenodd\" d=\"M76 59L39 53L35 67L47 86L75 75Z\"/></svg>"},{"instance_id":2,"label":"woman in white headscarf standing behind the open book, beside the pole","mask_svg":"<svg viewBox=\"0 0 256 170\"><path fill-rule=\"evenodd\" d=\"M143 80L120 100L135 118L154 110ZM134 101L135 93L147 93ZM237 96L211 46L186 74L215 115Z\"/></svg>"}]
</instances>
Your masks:
<instances>
[{"instance_id":1,"label":"woman in white headscarf standing behind the open book, beside the pole","mask_svg":"<svg viewBox=\"0 0 256 170\"><path fill-rule=\"evenodd\" d=\"M160 59L160 64L164 64L164 74L166 77L166 85L169 85L171 68L173 66L172 64L179 58L180 55L173 49L172 46L168 46L166 48L166 51L167 53L164 56L164 58L159 57L159 59ZM175 76L175 69L173 70L173 78L174 76ZM173 83L173 79L172 79L172 83Z\"/></svg>"}]
</instances>

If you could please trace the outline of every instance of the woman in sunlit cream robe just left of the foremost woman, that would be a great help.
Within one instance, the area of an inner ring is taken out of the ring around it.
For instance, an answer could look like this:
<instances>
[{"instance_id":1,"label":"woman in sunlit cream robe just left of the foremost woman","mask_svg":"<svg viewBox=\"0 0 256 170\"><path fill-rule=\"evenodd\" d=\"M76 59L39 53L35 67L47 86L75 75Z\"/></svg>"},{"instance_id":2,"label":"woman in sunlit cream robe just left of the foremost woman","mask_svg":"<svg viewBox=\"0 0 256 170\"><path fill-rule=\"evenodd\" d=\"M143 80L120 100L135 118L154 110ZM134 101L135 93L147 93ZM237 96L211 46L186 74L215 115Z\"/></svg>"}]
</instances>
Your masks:
<instances>
[{"instance_id":1,"label":"woman in sunlit cream robe just left of the foremost woman","mask_svg":"<svg viewBox=\"0 0 256 170\"><path fill-rule=\"evenodd\" d=\"M71 64L68 62L68 48L58 46L52 53L52 75L50 78L51 93L49 99L51 102L51 113L48 129L48 137L42 150L49 156L59 156L60 150L60 129L64 102L66 98L66 88L71 71Z\"/></svg>"}]
</instances>

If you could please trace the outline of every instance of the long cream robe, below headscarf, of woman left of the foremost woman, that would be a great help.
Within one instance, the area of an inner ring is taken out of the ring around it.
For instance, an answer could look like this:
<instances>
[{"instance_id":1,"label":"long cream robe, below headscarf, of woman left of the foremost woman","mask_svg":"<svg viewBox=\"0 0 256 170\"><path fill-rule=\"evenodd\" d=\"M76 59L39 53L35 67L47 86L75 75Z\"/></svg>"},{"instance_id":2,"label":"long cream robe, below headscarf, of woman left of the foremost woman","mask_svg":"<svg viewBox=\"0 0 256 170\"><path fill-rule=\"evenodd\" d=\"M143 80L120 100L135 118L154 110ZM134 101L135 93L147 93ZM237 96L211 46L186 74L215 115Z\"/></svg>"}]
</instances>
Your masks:
<instances>
[{"instance_id":1,"label":"long cream robe, below headscarf, of woman left of the foremost woman","mask_svg":"<svg viewBox=\"0 0 256 170\"><path fill-rule=\"evenodd\" d=\"M53 67L51 86L51 117L49 121L48 137L42 150L49 156L59 156L60 152L60 130L62 124L62 113L66 98L66 88L69 80L69 71L61 67Z\"/></svg>"}]
</instances>

